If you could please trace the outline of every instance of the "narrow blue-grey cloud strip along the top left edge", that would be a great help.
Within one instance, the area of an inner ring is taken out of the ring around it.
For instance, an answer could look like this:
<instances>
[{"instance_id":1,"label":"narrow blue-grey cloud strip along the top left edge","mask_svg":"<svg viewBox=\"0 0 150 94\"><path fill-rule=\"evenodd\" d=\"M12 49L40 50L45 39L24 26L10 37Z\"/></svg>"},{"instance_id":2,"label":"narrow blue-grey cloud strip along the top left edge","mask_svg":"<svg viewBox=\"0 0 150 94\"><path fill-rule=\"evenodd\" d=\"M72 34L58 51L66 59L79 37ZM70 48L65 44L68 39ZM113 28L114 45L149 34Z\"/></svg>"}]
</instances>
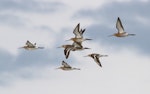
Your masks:
<instances>
[{"instance_id":1,"label":"narrow blue-grey cloud strip along the top left edge","mask_svg":"<svg viewBox=\"0 0 150 94\"><path fill-rule=\"evenodd\" d=\"M59 2L41 2L35 0L0 0L0 11L49 13L62 8Z\"/></svg>"}]
</instances>

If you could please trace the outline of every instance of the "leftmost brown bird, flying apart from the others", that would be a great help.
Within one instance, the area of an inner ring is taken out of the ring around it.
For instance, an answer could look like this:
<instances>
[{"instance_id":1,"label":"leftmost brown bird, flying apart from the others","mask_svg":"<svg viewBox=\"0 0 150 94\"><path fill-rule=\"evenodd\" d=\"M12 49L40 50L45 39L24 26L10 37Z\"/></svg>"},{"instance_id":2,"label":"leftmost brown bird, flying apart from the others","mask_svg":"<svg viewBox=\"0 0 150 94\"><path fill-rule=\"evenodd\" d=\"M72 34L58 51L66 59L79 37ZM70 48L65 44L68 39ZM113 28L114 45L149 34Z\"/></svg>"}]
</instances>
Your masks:
<instances>
[{"instance_id":1,"label":"leftmost brown bird, flying apart from the others","mask_svg":"<svg viewBox=\"0 0 150 94\"><path fill-rule=\"evenodd\" d=\"M24 48L26 50L36 50L36 49L43 49L44 47L37 47L36 43L31 43L29 40L26 41L26 45L20 48Z\"/></svg>"}]
</instances>

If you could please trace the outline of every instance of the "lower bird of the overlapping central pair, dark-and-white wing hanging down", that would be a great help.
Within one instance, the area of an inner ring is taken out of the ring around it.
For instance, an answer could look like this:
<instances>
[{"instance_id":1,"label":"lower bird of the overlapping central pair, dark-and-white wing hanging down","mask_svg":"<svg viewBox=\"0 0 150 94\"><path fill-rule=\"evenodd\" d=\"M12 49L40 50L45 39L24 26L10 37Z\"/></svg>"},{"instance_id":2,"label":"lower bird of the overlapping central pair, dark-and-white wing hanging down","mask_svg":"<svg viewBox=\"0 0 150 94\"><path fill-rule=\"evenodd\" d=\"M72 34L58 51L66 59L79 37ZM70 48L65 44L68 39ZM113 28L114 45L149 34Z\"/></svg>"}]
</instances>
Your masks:
<instances>
[{"instance_id":1,"label":"lower bird of the overlapping central pair, dark-and-white wing hanging down","mask_svg":"<svg viewBox=\"0 0 150 94\"><path fill-rule=\"evenodd\" d=\"M70 51L82 51L84 49L90 49L88 47L83 47L82 42L73 42L72 45L66 44L58 48L64 48L64 55L68 59Z\"/></svg>"}]
</instances>

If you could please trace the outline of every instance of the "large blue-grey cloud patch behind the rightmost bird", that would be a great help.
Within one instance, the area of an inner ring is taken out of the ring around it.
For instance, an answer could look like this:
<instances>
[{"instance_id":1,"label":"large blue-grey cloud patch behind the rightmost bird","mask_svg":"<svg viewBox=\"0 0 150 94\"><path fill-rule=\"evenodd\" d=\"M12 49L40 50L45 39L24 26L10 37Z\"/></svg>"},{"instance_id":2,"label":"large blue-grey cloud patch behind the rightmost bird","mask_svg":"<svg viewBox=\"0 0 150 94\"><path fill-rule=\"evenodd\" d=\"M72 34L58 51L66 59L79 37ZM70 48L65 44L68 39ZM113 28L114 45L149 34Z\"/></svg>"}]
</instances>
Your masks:
<instances>
[{"instance_id":1,"label":"large blue-grey cloud patch behind the rightmost bird","mask_svg":"<svg viewBox=\"0 0 150 94\"><path fill-rule=\"evenodd\" d=\"M75 13L74 17L93 19L94 24L87 27L88 35L95 41L102 40L110 45L130 45L140 48L142 52L150 53L148 41L150 2L113 2L95 10L84 9ZM116 33L116 20L120 17L125 31L136 34L134 37L108 37Z\"/></svg>"}]
</instances>

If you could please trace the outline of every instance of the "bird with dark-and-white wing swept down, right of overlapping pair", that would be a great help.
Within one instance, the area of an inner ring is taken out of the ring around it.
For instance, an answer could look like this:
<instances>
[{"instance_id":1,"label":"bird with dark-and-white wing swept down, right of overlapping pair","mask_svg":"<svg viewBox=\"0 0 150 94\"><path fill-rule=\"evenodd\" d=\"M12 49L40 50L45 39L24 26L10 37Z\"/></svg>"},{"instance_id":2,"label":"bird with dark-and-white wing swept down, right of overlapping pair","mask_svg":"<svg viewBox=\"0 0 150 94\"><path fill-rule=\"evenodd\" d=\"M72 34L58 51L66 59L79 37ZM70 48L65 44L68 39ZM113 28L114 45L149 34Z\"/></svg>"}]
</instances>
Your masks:
<instances>
[{"instance_id":1,"label":"bird with dark-and-white wing swept down, right of overlapping pair","mask_svg":"<svg viewBox=\"0 0 150 94\"><path fill-rule=\"evenodd\" d=\"M102 67L102 64L99 60L100 57L107 57L108 55L100 55L100 54L97 54L97 53L92 53L92 54L88 54L87 56L85 57L91 57L94 59L94 61L100 66Z\"/></svg>"}]
</instances>

